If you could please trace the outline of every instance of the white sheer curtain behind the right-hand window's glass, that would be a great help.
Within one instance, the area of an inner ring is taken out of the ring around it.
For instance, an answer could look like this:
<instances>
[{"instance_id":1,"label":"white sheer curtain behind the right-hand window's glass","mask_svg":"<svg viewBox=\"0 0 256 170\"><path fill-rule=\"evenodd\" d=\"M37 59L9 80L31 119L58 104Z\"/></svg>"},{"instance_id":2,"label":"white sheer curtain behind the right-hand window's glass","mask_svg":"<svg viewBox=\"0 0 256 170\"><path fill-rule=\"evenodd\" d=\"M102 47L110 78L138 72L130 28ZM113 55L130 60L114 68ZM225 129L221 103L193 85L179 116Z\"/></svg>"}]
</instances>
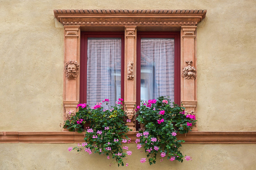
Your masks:
<instances>
[{"instance_id":1,"label":"white sheer curtain behind the right-hand window's glass","mask_svg":"<svg viewBox=\"0 0 256 170\"><path fill-rule=\"evenodd\" d=\"M174 102L174 39L141 38L140 100L170 96Z\"/></svg>"}]
</instances>

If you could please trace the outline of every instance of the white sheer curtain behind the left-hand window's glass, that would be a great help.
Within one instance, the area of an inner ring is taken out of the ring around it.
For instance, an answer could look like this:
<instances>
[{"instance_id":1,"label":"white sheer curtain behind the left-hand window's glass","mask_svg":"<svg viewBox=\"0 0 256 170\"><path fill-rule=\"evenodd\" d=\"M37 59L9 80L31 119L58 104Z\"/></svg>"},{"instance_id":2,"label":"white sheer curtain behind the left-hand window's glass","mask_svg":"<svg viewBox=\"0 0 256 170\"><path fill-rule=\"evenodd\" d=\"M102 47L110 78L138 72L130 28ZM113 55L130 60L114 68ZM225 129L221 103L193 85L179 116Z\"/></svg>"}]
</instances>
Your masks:
<instances>
[{"instance_id":1,"label":"white sheer curtain behind the left-hand window's glass","mask_svg":"<svg viewBox=\"0 0 256 170\"><path fill-rule=\"evenodd\" d=\"M87 104L121 98L121 39L88 38ZM105 107L105 104L102 104Z\"/></svg>"}]
</instances>

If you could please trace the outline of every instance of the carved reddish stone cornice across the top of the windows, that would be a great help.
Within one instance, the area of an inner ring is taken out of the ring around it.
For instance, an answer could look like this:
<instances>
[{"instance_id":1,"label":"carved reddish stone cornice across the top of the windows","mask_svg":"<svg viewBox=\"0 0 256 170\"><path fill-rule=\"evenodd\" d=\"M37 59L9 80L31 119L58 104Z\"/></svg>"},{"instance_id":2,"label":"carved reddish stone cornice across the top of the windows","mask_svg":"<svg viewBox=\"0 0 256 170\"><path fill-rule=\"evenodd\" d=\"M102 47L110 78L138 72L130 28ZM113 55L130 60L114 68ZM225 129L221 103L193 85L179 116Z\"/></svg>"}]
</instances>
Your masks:
<instances>
[{"instance_id":1,"label":"carved reddish stone cornice across the top of the windows","mask_svg":"<svg viewBox=\"0 0 256 170\"><path fill-rule=\"evenodd\" d=\"M207 10L53 10L63 25L197 25Z\"/></svg>"}]
</instances>

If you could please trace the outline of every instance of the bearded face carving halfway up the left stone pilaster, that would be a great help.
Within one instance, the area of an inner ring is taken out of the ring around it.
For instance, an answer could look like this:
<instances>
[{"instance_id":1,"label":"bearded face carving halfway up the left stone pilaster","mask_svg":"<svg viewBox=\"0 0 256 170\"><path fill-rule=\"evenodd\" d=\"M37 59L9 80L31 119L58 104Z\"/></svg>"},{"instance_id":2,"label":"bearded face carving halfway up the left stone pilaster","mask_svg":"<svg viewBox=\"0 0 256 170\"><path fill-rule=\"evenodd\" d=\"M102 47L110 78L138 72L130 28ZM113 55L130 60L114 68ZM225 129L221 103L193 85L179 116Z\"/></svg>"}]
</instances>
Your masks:
<instances>
[{"instance_id":1,"label":"bearded face carving halfway up the left stone pilaster","mask_svg":"<svg viewBox=\"0 0 256 170\"><path fill-rule=\"evenodd\" d=\"M70 60L65 64L65 74L68 80L76 80L79 74L79 64L77 61Z\"/></svg>"}]
</instances>

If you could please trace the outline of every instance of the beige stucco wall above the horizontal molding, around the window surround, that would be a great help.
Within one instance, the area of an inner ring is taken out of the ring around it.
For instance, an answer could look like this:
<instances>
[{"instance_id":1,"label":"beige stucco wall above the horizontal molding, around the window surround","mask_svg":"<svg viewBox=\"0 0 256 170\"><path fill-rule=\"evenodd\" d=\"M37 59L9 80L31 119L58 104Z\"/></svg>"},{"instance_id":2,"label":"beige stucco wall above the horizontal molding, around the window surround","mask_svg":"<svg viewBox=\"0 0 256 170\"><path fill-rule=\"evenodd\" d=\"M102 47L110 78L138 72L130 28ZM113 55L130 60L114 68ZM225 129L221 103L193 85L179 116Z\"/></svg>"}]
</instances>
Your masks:
<instances>
[{"instance_id":1,"label":"beige stucco wall above the horizontal molding, around the window surround","mask_svg":"<svg viewBox=\"0 0 256 170\"><path fill-rule=\"evenodd\" d=\"M207 9L197 28L198 130L256 130L253 0L0 4L0 131L61 131L63 27L53 9Z\"/></svg>"}]
</instances>

